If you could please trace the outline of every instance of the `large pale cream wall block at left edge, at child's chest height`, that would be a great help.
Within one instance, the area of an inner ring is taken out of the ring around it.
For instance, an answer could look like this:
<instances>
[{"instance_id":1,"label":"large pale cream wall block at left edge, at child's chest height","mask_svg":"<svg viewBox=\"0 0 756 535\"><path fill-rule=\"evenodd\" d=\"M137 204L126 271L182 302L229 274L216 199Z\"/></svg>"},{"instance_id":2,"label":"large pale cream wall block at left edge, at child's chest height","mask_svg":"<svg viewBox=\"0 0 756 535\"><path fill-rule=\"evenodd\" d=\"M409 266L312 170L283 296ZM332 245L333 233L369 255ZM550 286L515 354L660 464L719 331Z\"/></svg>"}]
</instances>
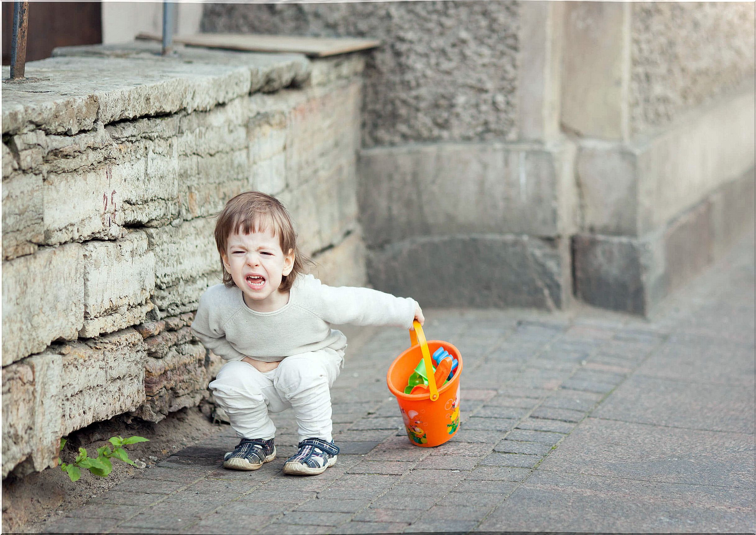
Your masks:
<instances>
[{"instance_id":1,"label":"large pale cream wall block at left edge, at child's chest height","mask_svg":"<svg viewBox=\"0 0 756 535\"><path fill-rule=\"evenodd\" d=\"M39 249L3 262L2 363L76 339L84 323L82 246Z\"/></svg>"}]
</instances>

